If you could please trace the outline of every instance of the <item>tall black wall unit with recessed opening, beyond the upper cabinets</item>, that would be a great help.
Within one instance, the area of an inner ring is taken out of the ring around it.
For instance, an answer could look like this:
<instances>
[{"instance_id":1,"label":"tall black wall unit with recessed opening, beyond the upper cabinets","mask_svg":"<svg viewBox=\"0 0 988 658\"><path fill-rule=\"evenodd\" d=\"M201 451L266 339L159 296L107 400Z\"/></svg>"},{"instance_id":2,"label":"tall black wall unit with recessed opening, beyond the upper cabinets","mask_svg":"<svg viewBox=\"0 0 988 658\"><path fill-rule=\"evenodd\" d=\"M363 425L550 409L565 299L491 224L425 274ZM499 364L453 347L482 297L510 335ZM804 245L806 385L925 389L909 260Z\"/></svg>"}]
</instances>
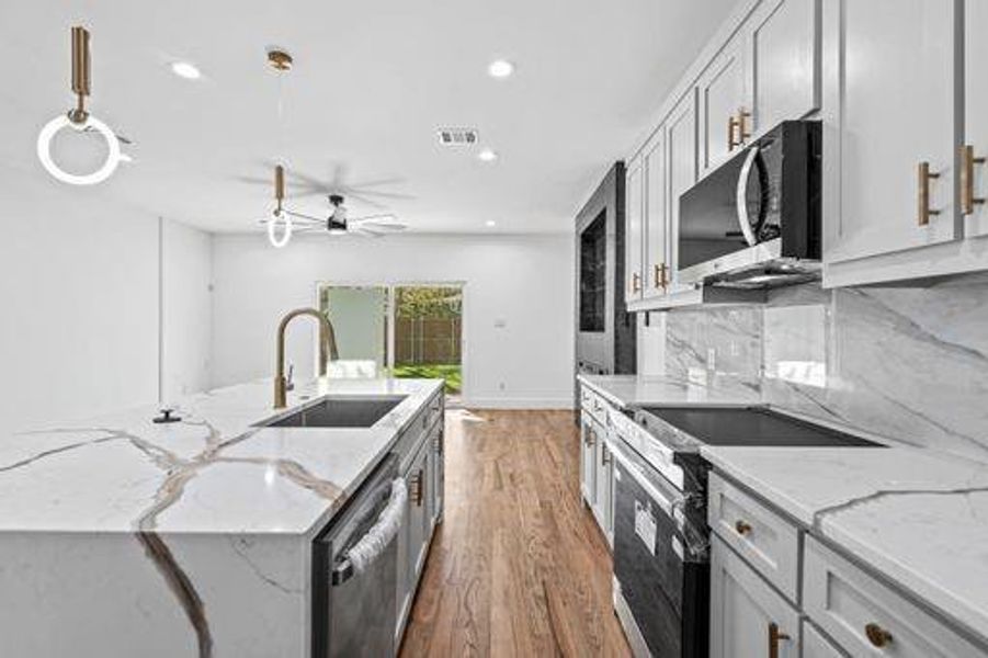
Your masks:
<instances>
[{"instance_id":1,"label":"tall black wall unit with recessed opening, beyond the upper cabinets","mask_svg":"<svg viewBox=\"0 0 988 658\"><path fill-rule=\"evenodd\" d=\"M623 287L624 162L611 168L576 224L576 374L634 373L635 316L627 313ZM576 409L579 388L578 383Z\"/></svg>"}]
</instances>

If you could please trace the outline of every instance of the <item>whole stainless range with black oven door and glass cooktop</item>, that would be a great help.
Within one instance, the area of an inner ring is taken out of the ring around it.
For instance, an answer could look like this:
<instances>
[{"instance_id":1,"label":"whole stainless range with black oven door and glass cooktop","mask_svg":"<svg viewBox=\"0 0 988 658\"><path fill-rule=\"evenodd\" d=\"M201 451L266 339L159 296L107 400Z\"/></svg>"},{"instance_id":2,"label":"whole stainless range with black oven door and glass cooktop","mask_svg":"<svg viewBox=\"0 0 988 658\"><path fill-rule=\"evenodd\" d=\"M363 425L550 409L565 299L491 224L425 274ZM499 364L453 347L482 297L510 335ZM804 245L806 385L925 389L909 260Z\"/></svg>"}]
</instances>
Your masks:
<instances>
[{"instance_id":1,"label":"whole stainless range with black oven door and glass cooktop","mask_svg":"<svg viewBox=\"0 0 988 658\"><path fill-rule=\"evenodd\" d=\"M882 447L766 407L612 411L614 610L636 656L708 650L708 445Z\"/></svg>"}]
</instances>

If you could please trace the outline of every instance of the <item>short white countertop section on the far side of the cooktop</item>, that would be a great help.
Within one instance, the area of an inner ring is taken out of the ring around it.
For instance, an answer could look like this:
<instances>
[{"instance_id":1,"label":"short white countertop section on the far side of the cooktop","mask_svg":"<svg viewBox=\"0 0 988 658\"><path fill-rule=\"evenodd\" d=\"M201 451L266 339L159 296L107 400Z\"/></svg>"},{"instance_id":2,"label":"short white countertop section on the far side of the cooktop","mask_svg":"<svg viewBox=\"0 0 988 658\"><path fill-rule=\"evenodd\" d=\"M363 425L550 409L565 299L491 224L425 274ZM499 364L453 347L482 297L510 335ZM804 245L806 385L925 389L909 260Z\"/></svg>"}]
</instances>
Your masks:
<instances>
[{"instance_id":1,"label":"short white countertop section on the far side of the cooktop","mask_svg":"<svg viewBox=\"0 0 988 658\"><path fill-rule=\"evenodd\" d=\"M738 384L722 387L638 375L579 375L579 379L618 407L737 406L761 401L759 392Z\"/></svg>"}]
</instances>

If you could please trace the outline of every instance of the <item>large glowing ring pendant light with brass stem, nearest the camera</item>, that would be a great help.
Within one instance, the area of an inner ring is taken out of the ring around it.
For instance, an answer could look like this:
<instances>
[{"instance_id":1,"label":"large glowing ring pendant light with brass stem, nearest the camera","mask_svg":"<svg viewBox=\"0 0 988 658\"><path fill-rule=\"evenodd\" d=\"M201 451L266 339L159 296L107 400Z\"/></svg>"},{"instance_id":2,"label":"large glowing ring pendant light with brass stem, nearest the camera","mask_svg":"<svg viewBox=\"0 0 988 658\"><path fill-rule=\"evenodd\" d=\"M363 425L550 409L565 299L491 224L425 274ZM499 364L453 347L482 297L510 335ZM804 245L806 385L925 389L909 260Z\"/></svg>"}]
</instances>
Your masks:
<instances>
[{"instance_id":1,"label":"large glowing ring pendant light with brass stem, nearest the camera","mask_svg":"<svg viewBox=\"0 0 988 658\"><path fill-rule=\"evenodd\" d=\"M37 157L45 170L59 181L70 185L101 183L113 174L121 161L120 143L116 135L86 109L86 99L90 95L90 82L89 31L77 25L72 27L72 93L76 94L76 106L45 124L37 136ZM59 131L67 127L79 133L95 131L106 140L106 159L99 169L87 174L75 174L56 164L52 158L52 139Z\"/></svg>"}]
</instances>

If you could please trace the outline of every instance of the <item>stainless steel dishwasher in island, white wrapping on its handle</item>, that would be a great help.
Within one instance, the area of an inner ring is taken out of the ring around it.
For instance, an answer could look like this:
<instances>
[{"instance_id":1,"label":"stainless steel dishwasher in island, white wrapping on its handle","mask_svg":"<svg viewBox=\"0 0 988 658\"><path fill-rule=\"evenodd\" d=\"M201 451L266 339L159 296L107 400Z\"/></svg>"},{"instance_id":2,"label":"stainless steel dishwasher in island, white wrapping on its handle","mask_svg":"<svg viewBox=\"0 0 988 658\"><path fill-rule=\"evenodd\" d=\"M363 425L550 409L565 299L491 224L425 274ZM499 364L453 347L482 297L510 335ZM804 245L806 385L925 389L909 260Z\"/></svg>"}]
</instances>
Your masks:
<instances>
[{"instance_id":1,"label":"stainless steel dishwasher in island, white wrapping on its handle","mask_svg":"<svg viewBox=\"0 0 988 658\"><path fill-rule=\"evenodd\" d=\"M407 492L388 455L313 546L313 656L394 656Z\"/></svg>"}]
</instances>

